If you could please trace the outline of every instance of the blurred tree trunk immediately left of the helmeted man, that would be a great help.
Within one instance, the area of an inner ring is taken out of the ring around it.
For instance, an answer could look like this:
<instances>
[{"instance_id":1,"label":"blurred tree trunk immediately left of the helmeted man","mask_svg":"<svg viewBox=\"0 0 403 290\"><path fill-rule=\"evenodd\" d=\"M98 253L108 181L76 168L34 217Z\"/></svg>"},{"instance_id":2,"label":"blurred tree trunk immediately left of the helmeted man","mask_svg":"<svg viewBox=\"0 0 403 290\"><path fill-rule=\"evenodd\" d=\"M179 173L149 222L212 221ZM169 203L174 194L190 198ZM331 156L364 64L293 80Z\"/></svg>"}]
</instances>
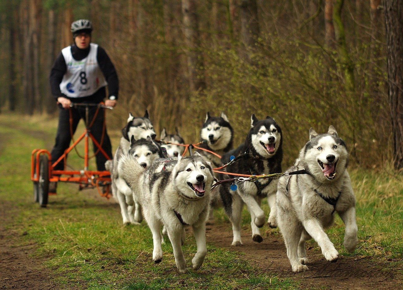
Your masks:
<instances>
[{"instance_id":1,"label":"blurred tree trunk immediately left of the helmeted man","mask_svg":"<svg viewBox=\"0 0 403 290\"><path fill-rule=\"evenodd\" d=\"M49 72L52 68L54 59L55 59L55 51L56 51L56 35L55 35L55 12L54 10L49 10L48 12L48 44L47 44L47 56L46 56L46 99L45 106L46 112L48 114L54 114L56 112L57 106L52 93L50 91L50 83L49 83Z\"/></svg>"}]
</instances>

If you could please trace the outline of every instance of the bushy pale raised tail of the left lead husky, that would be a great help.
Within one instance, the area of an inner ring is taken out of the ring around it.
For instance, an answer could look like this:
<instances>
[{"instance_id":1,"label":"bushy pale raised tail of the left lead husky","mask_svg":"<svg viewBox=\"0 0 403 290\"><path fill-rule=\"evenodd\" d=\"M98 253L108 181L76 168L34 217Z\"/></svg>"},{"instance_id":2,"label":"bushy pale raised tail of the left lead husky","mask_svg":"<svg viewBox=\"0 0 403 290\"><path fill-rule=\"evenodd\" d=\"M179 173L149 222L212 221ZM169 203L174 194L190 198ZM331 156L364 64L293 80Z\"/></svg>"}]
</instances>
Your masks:
<instances>
[{"instance_id":1,"label":"bushy pale raised tail of the left lead husky","mask_svg":"<svg viewBox=\"0 0 403 290\"><path fill-rule=\"evenodd\" d=\"M129 184L133 192L140 192L141 176L145 169L133 155L122 155L118 162L118 174Z\"/></svg>"}]
</instances>

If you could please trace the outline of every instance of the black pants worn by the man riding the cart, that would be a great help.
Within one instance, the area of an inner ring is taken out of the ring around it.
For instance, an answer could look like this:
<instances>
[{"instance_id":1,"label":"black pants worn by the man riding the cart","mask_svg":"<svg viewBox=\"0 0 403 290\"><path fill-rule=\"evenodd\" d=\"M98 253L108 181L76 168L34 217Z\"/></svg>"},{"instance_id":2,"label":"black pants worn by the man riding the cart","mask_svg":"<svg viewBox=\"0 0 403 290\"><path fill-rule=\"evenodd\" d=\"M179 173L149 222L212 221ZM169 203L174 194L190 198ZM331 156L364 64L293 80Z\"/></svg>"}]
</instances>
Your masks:
<instances>
[{"instance_id":1,"label":"black pants worn by the man riding the cart","mask_svg":"<svg viewBox=\"0 0 403 290\"><path fill-rule=\"evenodd\" d=\"M91 124L93 116L96 112L96 107L89 107L89 114L88 114L88 125ZM89 128L91 134L95 137L99 144L101 144L102 138L102 128L104 124L104 108L100 108L98 114L93 122L91 128ZM79 108L71 108L71 115L73 117L73 134L77 129L77 125L80 119L85 121L85 107ZM50 153L52 155L52 163L59 159L60 156L63 155L64 151L69 148L71 142L71 133L70 133L70 114L69 110L63 109L61 105L59 105L59 124L56 133L56 141L55 145ZM96 145L93 145L94 153L98 150ZM110 139L108 133L106 133L106 126L105 126L105 133L104 133L104 140L101 144L102 149L108 154L110 158L112 158L112 145L110 144ZM105 170L105 162L106 157L100 151L97 153L96 157L96 164L98 170ZM54 168L54 170L64 170L64 162L61 160Z\"/></svg>"}]
</instances>

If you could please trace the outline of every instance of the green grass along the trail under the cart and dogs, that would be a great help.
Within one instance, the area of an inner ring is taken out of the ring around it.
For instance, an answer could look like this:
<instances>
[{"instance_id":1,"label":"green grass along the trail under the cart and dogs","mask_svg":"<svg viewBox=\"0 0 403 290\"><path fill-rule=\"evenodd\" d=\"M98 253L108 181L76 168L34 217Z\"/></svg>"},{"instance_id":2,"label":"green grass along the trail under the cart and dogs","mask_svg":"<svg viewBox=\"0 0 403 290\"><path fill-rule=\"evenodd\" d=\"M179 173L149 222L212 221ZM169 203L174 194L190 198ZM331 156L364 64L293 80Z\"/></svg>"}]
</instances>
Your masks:
<instances>
[{"instance_id":1,"label":"green grass along the trail under the cart and dogs","mask_svg":"<svg viewBox=\"0 0 403 290\"><path fill-rule=\"evenodd\" d=\"M78 191L76 184L59 184L48 208L33 203L29 180L30 154L51 144L56 121L46 117L22 118L0 115L0 203L12 203L15 218L8 225L21 235L21 243L34 242L35 255L46 258L46 266L60 288L80 289L296 289L295 280L262 273L239 253L208 244L208 255L198 271L191 269L196 251L193 236L187 235L183 252L189 273L176 272L172 247L163 245L162 263L152 263L152 238L145 223L122 226L117 204ZM21 128L25 128L21 131ZM18 129L18 130L17 130ZM30 130L48 134L28 134ZM78 131L82 130L82 126ZM114 148L118 134L112 139ZM47 148L50 149L50 148ZM73 152L68 163L82 163ZM343 247L344 225L339 218L328 230L330 240L341 255L368 257L386 269L403 268L403 178L391 172L350 170L357 197L359 244L353 253ZM268 212L267 203L263 205ZM228 221L216 211L218 222ZM243 212L243 225L250 216ZM27 233L23 235L23 233ZM279 235L278 230L272 233ZM309 245L317 249L315 242ZM308 246L309 246L308 245ZM317 249L319 250L319 249Z\"/></svg>"}]
</instances>

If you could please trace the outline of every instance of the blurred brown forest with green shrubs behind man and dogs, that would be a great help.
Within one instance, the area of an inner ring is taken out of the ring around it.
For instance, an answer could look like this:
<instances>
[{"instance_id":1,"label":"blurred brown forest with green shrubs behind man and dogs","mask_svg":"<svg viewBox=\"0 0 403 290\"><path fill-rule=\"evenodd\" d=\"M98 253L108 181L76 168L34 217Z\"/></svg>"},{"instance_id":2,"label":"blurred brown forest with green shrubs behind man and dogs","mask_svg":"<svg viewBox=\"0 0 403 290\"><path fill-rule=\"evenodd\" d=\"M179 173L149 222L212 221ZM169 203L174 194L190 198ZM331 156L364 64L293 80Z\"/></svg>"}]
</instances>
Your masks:
<instances>
[{"instance_id":1,"label":"blurred brown forest with green shrubs behind man and dogs","mask_svg":"<svg viewBox=\"0 0 403 290\"><path fill-rule=\"evenodd\" d=\"M50 68L87 18L120 81L109 129L147 109L157 134L177 126L195 143L206 112L223 111L238 145L254 113L280 124L287 166L310 127L333 125L352 164L390 168L384 11L380 0L0 0L0 108L57 114Z\"/></svg>"}]
</instances>

